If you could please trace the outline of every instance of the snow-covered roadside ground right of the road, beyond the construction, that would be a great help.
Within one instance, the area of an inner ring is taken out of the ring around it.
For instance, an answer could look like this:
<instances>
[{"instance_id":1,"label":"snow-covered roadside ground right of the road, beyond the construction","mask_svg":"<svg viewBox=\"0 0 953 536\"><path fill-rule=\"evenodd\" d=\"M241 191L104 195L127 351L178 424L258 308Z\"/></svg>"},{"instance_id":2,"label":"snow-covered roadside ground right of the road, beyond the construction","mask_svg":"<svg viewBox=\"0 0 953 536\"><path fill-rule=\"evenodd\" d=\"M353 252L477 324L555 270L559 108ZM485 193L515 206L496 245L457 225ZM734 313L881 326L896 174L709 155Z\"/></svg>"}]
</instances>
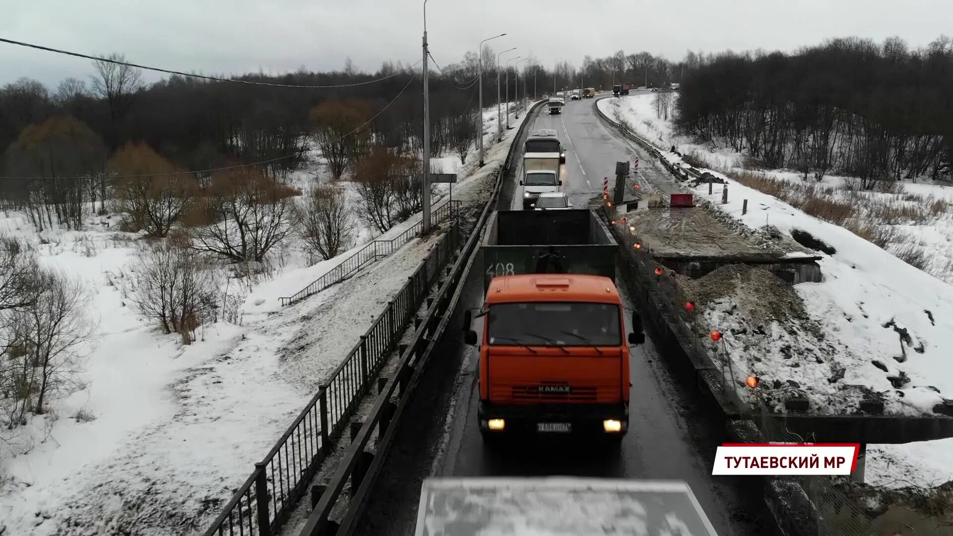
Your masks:
<instances>
[{"instance_id":1,"label":"snow-covered roadside ground right of the road, beyond the construction","mask_svg":"<svg viewBox=\"0 0 953 536\"><path fill-rule=\"evenodd\" d=\"M673 135L670 122L658 118L652 96L604 99L598 106L610 117L623 118L637 134L659 146L673 163L680 163L681 159L668 152L672 145L682 154L694 151L698 155L705 151L714 168L708 171L728 184L729 202L720 204L720 185L716 185L712 196L708 195L707 185L694 188L693 193L711 201L727 216L752 230L770 224L788 236L793 231L807 232L833 248L831 253L819 253L823 281L794 287L803 302L807 321L772 322L766 312L760 318L767 320L763 321L767 325L763 326L765 333L761 338L765 344L752 347L750 330L755 326L738 314L743 296L715 299L700 311L713 329L724 334L723 348L738 367L736 377L743 379L754 373L796 384L806 390L812 403L823 403L825 395L835 390L855 390L860 398L862 390L851 386L863 385L882 398L885 411L913 415L931 413L934 404L953 398L953 287L845 226L806 214L781 200L783 194L769 196L734 180L731 170L739 168L741 155L709 151ZM765 175L778 181L801 180L797 174L783 171ZM829 177L825 185L835 190L834 196L845 196L837 190L844 181L844 177ZM930 203L938 199L949 201L953 195L953 189L939 185L904 183L902 188L900 194L864 194L894 196L897 203L921 202L904 201L904 194L923 196ZM741 214L744 199L748 201L746 215ZM792 200L795 204L800 201ZM948 257L953 251L953 235L949 206L943 208L940 214L924 221L898 221L893 226L912 237L907 239L928 244L924 247L934 250L937 258ZM740 291L745 286L743 280L739 275ZM821 338L802 331L804 325L820 328ZM811 340L822 342L805 348ZM796 356L815 355L820 359L792 360L792 348ZM898 487L931 486L953 480L953 439L870 445L866 477L868 484Z\"/></svg>"}]
</instances>

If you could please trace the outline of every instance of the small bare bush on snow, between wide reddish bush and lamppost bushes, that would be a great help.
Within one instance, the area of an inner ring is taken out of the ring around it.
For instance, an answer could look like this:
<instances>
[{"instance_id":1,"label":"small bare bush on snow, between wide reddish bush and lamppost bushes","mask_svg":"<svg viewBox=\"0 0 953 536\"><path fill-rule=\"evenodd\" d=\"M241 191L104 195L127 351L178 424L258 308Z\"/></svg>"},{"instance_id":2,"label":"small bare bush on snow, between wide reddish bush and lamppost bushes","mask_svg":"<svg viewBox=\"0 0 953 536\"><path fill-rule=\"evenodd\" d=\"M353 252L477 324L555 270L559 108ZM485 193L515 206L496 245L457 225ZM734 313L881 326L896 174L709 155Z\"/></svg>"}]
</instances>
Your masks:
<instances>
[{"instance_id":1,"label":"small bare bush on snow, between wide reddish bush and lamppost bushes","mask_svg":"<svg viewBox=\"0 0 953 536\"><path fill-rule=\"evenodd\" d=\"M354 247L356 224L344 190L317 186L295 205L298 236L311 255L334 258Z\"/></svg>"}]
</instances>

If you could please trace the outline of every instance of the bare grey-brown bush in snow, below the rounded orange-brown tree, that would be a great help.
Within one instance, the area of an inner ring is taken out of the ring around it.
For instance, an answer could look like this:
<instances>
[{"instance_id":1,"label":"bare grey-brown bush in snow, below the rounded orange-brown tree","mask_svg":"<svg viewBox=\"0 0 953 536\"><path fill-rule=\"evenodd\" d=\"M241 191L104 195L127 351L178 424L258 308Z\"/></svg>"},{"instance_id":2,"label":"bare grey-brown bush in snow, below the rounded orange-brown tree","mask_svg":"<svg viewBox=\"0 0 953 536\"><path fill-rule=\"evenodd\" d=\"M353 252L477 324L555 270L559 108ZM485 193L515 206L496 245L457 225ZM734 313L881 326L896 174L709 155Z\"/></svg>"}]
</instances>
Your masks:
<instances>
[{"instance_id":1,"label":"bare grey-brown bush in snow, below the rounded orange-brown tree","mask_svg":"<svg viewBox=\"0 0 953 536\"><path fill-rule=\"evenodd\" d=\"M215 288L201 259L185 248L156 244L139 253L132 265L136 274L132 305L165 333L177 333L186 344L210 318Z\"/></svg>"}]
</instances>

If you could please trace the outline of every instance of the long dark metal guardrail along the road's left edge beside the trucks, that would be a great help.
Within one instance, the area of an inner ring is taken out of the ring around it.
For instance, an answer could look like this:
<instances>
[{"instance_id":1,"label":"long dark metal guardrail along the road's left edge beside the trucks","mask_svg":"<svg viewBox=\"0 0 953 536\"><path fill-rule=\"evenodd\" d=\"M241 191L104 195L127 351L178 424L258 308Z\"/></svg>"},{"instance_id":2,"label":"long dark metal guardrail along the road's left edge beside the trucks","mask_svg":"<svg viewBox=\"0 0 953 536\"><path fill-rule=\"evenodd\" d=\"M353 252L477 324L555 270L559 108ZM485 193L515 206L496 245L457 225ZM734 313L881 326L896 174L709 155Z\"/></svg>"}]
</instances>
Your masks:
<instances>
[{"instance_id":1,"label":"long dark metal guardrail along the road's left edge beside the trucks","mask_svg":"<svg viewBox=\"0 0 953 536\"><path fill-rule=\"evenodd\" d=\"M537 102L526 112L529 117L541 104ZM524 120L517 131L517 138L526 128L528 121ZM400 356L394 376L387 381L377 396L374 408L367 416L360 430L352 440L351 446L337 466L332 479L323 486L323 491L314 505L314 510L307 523L301 530L301 536L328 536L335 534L342 536L351 534L363 512L367 498L374 486L377 475L387 453L390 450L396 434L397 423L410 400L410 395L416 386L423 369L432 356L436 342L443 334L447 323L459 299L462 286L459 282L469 273L474 262L473 255L476 245L483 235L483 229L496 206L502 186L503 176L512 165L512 159L517 143L514 140L507 154L505 165L497 172L497 183L493 193L483 211L477 219L476 226L470 233L466 245L456 258L454 266L449 269L449 276L437 291L433 301L424 314L423 320L417 327L412 342ZM396 399L393 401L392 399ZM376 433L375 453L366 450ZM350 481L350 503L341 521L330 519L332 511L338 502L345 486Z\"/></svg>"}]
</instances>

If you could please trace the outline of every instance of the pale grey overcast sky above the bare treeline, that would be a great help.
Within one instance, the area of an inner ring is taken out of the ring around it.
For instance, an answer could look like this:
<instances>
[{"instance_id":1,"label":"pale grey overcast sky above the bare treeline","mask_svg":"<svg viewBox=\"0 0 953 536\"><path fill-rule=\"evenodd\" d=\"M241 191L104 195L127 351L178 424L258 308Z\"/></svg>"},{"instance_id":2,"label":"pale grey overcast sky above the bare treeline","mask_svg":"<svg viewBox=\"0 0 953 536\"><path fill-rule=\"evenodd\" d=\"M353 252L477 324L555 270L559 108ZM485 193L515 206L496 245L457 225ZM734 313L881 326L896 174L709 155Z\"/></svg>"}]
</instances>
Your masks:
<instances>
[{"instance_id":1,"label":"pale grey overcast sky above the bare treeline","mask_svg":"<svg viewBox=\"0 0 953 536\"><path fill-rule=\"evenodd\" d=\"M0 36L177 71L241 73L414 63L423 29L419 0L4 0ZM449 64L500 32L497 51L578 66L585 54L686 50L791 51L827 37L911 46L953 32L953 0L429 0L436 61ZM55 88L91 72L87 60L0 43L0 84L30 76ZM147 74L155 80L156 73Z\"/></svg>"}]
</instances>

